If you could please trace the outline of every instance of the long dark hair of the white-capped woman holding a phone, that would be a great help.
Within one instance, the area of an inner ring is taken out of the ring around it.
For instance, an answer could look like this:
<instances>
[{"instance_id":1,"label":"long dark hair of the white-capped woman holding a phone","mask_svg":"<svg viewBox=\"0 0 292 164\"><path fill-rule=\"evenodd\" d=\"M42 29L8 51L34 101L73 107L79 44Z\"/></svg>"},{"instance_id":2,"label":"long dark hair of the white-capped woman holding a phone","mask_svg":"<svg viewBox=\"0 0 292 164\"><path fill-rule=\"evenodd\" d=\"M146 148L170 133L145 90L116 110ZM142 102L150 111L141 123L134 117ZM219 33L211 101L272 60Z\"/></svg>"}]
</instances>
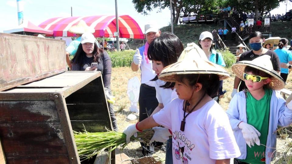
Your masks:
<instances>
[{"instance_id":1,"label":"long dark hair of the white-capped woman holding a phone","mask_svg":"<svg viewBox=\"0 0 292 164\"><path fill-rule=\"evenodd\" d=\"M93 54L93 63L100 63L99 58L103 54L103 49L98 48L97 44L94 43L94 49L92 51ZM82 44L80 43L78 46L78 49L71 60L71 63L83 63L83 56L86 55L86 53L82 49Z\"/></svg>"}]
</instances>

